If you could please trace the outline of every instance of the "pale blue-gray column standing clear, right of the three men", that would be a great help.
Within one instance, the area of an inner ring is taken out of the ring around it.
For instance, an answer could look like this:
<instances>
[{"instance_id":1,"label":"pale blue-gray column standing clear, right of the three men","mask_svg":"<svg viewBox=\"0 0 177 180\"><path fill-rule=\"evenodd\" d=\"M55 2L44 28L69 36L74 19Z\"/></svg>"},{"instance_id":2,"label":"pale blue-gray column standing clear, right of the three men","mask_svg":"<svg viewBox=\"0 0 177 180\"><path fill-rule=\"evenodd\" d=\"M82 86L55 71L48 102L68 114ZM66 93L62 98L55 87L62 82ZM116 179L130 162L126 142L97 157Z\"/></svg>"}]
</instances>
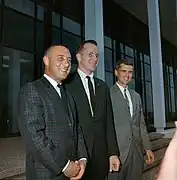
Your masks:
<instances>
[{"instance_id":1,"label":"pale blue-gray column standing clear, right of the three men","mask_svg":"<svg viewBox=\"0 0 177 180\"><path fill-rule=\"evenodd\" d=\"M147 6L154 106L154 126L157 132L163 133L164 127L166 126L166 120L158 0L147 0Z\"/></svg>"}]
</instances>

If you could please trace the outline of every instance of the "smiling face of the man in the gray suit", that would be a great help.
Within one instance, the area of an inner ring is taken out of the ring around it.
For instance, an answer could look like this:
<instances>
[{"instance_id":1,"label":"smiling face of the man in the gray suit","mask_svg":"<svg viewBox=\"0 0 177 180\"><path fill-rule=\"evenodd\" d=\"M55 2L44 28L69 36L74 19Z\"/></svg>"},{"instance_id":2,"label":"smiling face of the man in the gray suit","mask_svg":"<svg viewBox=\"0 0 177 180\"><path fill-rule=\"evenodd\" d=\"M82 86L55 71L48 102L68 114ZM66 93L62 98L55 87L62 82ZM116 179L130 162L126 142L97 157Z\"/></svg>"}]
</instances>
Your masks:
<instances>
[{"instance_id":1,"label":"smiling face of the man in the gray suit","mask_svg":"<svg viewBox=\"0 0 177 180\"><path fill-rule=\"evenodd\" d=\"M115 75L117 76L118 83L126 87L132 80L133 66L121 64L120 67L115 70Z\"/></svg>"}]
</instances>

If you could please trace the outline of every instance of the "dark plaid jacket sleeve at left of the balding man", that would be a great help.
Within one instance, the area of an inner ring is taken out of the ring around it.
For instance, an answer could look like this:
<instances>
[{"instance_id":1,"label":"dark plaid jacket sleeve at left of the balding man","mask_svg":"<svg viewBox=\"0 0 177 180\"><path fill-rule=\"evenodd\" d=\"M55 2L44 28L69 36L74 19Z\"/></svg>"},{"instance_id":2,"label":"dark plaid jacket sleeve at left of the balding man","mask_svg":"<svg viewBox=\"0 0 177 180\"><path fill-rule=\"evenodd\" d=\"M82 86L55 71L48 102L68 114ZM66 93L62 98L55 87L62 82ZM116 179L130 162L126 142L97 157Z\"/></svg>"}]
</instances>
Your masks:
<instances>
[{"instance_id":1,"label":"dark plaid jacket sleeve at left of the balding man","mask_svg":"<svg viewBox=\"0 0 177 180\"><path fill-rule=\"evenodd\" d=\"M63 151L58 153L60 148L45 134L44 113L42 100L34 84L27 84L20 92L18 118L26 149L36 161L55 175L59 175L68 159ZM56 157L56 154L60 154L59 157Z\"/></svg>"}]
</instances>

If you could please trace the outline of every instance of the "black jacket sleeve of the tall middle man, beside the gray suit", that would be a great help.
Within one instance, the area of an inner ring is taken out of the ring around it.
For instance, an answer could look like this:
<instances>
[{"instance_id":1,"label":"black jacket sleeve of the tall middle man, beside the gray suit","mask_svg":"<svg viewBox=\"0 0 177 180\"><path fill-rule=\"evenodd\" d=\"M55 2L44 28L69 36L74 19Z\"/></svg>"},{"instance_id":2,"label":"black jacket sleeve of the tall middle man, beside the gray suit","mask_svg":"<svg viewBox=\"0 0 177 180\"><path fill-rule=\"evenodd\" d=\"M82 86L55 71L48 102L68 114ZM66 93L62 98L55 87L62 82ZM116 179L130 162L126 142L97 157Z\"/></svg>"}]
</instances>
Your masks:
<instances>
[{"instance_id":1,"label":"black jacket sleeve of the tall middle man, beside the gray suit","mask_svg":"<svg viewBox=\"0 0 177 180\"><path fill-rule=\"evenodd\" d=\"M119 156L119 148L116 138L113 110L111 104L111 97L109 88L106 86L106 125L107 125L107 143L108 143L108 155Z\"/></svg>"}]
</instances>

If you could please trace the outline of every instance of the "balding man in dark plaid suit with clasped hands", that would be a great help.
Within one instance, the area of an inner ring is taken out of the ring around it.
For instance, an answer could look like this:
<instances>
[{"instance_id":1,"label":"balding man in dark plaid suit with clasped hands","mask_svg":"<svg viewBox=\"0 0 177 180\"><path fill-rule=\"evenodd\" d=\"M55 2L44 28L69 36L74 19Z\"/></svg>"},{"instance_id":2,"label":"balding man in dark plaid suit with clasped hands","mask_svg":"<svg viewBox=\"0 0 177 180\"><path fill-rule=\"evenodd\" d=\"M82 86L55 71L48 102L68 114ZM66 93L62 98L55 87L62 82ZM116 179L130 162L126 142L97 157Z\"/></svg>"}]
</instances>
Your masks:
<instances>
[{"instance_id":1,"label":"balding man in dark plaid suit with clasped hands","mask_svg":"<svg viewBox=\"0 0 177 180\"><path fill-rule=\"evenodd\" d=\"M45 74L20 93L19 126L26 145L27 180L80 179L87 152L76 123L75 104L62 86L71 54L51 46L43 58Z\"/></svg>"}]
</instances>

